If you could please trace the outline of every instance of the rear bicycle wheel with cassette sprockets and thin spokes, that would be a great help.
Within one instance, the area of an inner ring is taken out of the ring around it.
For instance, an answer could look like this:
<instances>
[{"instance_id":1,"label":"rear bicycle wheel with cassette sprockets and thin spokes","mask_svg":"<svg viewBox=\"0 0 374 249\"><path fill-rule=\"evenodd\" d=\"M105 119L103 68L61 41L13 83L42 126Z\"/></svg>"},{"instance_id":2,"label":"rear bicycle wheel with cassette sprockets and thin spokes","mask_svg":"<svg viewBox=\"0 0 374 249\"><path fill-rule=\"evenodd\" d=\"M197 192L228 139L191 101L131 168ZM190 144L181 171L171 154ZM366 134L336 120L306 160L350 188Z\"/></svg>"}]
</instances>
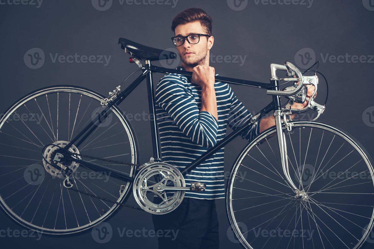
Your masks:
<instances>
[{"instance_id":1,"label":"rear bicycle wheel with cassette sprockets and thin spokes","mask_svg":"<svg viewBox=\"0 0 374 249\"><path fill-rule=\"evenodd\" d=\"M63 186L58 168L47 164L54 150L64 147L104 108L104 96L74 86L36 90L18 100L0 120L0 205L19 224L49 234L71 234L104 221L117 208ZM70 151L137 164L137 139L117 106L79 146ZM79 141L79 140L78 140ZM42 149L49 145L42 156ZM86 159L86 158L84 158ZM87 159L110 170L135 175L135 166ZM106 172L94 172L72 162L74 188L123 202L132 183ZM122 192L120 189L122 186Z\"/></svg>"}]
</instances>

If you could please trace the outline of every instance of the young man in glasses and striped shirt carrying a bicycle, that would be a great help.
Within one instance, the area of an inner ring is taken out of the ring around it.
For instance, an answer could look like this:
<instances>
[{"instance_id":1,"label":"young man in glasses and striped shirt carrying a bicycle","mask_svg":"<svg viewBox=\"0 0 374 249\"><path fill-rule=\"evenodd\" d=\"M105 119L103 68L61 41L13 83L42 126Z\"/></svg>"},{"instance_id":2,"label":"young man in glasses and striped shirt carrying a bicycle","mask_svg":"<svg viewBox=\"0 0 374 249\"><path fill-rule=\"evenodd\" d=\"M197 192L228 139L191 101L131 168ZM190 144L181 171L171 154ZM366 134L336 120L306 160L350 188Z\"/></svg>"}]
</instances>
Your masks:
<instances>
[{"instance_id":1,"label":"young man in glasses and striped shirt carrying a bicycle","mask_svg":"<svg viewBox=\"0 0 374 249\"><path fill-rule=\"evenodd\" d=\"M215 70L209 66L209 51L214 43L211 17L202 9L186 9L174 18L171 28L182 61L179 68L193 74L167 74L160 79L155 91L156 114L162 160L182 171L226 136L227 125L235 130L248 123L252 115L227 83L215 81ZM313 91L311 87L308 96ZM295 103L292 108L306 105L307 102ZM263 118L241 137L251 141L273 125L273 116ZM221 148L185 177L187 187L191 181L206 183L205 192L186 192L174 211L153 215L155 230L178 231L176 239L159 237L159 248L218 248L215 199L225 196L223 163Z\"/></svg>"}]
</instances>

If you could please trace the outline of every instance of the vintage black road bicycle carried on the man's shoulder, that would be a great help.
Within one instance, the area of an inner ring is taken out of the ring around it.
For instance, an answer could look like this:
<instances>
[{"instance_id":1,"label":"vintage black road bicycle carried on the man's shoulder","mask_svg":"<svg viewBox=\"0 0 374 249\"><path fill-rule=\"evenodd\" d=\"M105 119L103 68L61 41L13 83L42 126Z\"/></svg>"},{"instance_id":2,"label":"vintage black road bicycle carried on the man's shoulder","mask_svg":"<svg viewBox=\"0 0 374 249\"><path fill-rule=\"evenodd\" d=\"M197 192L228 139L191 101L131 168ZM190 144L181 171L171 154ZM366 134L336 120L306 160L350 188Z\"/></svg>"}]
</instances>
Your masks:
<instances>
[{"instance_id":1,"label":"vintage black road bicycle carried on the man's shoulder","mask_svg":"<svg viewBox=\"0 0 374 249\"><path fill-rule=\"evenodd\" d=\"M146 79L150 116L154 116L152 74L192 73L151 65L151 61L175 59L174 52L124 38L119 44L131 55L130 62L140 67L134 72L141 71L125 90L120 90L121 84L105 97L72 85L45 87L16 101L1 117L0 157L7 160L0 166L0 205L7 215L32 230L61 235L92 228L119 206L151 214L172 212L186 191L205 190L206 183L200 182L186 187L184 176L188 172L274 111L276 125L250 141L230 171L226 210L235 239L251 249L292 245L362 248L373 228L373 160L348 133L315 121L325 104L316 103L315 94L307 98L306 85L314 85L316 93L317 69L314 75L306 76L290 62L271 64L270 84L217 76L216 81L228 84L266 88L273 101L180 172L162 162L156 118L150 121L153 155L149 162L138 164L137 137L119 104ZM279 78L276 71L285 71L291 78ZM294 84L280 90L285 84L281 81ZM288 99L285 108L281 96ZM291 108L293 103L306 100L306 108ZM290 120L291 113L310 109L317 112L315 119ZM40 122L26 124L20 113L39 114ZM89 113L93 115L87 118ZM91 154L85 155L86 151ZM338 173L327 177L333 168ZM362 177L363 173L367 176ZM90 179L83 177L89 174ZM131 190L138 208L125 204ZM154 195L161 197L162 203L153 203L150 197ZM312 234L309 238L296 233L300 230L304 234L304 228Z\"/></svg>"}]
</instances>

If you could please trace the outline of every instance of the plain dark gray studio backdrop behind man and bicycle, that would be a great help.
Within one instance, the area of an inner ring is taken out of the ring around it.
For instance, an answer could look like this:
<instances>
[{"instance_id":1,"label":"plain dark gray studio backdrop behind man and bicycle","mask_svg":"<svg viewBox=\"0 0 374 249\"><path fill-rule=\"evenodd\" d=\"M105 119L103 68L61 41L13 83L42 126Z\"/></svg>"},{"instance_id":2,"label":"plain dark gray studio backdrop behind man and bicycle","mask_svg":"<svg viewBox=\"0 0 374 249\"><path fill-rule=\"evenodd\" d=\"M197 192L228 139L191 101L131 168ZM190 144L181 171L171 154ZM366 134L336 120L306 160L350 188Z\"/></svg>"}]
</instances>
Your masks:
<instances>
[{"instance_id":1,"label":"plain dark gray studio backdrop behind man and bicycle","mask_svg":"<svg viewBox=\"0 0 374 249\"><path fill-rule=\"evenodd\" d=\"M319 71L329 82L327 109L319 118L350 133L374 155L373 101L373 21L370 0L285 1L245 0L241 7L233 1L138 0L109 1L100 9L90 0L0 1L0 113L21 96L38 88L71 84L91 88L104 95L113 90L129 73L138 69L128 63L128 54L117 44L119 37L160 49L173 47L171 21L189 7L205 9L213 19L214 47L211 66L227 77L269 82L270 63L289 60L305 68L320 60ZM18 3L18 4L16 4ZM123 4L121 4L123 3ZM231 7L230 7L231 6ZM99 10L100 9L100 10ZM240 10L241 9L241 10ZM25 53L40 48L45 61L31 69L24 61ZM53 62L59 55L94 55L110 58L100 62ZM348 56L346 56L348 55ZM359 59L352 61L356 55ZM109 57L110 56L110 57ZM341 56L337 61L334 56ZM343 57L344 56L344 57ZM220 58L226 58L225 60ZM159 63L155 63L160 65ZM155 74L157 80L161 77ZM124 86L131 83L130 78ZM325 83L320 79L316 101L323 103ZM271 101L264 89L232 85L236 96L252 113ZM147 113L145 81L120 106L126 113ZM368 115L367 113L372 115ZM148 120L133 120L140 146L140 163L152 156ZM230 130L228 130L228 133ZM225 150L225 171L247 142L237 137ZM133 202L133 197L131 197ZM216 201L220 220L220 248L241 248L229 230L224 199ZM120 209L107 220L117 228L153 229L150 214ZM24 229L0 212L0 229ZM0 237L1 248L155 248L156 237L120 237L114 233L105 244L95 242L91 231L70 237L43 235L32 237Z\"/></svg>"}]
</instances>

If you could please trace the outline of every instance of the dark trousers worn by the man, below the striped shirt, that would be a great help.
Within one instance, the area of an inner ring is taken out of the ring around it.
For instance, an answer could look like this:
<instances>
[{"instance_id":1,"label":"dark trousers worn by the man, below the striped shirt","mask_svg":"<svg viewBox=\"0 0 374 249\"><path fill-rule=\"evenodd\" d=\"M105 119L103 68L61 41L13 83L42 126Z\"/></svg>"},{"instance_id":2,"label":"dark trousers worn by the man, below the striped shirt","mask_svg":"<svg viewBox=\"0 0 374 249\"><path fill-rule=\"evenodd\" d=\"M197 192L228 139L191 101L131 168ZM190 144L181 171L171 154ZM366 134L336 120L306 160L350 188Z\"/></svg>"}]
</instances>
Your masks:
<instances>
[{"instance_id":1,"label":"dark trousers worn by the man, below the striped shirt","mask_svg":"<svg viewBox=\"0 0 374 249\"><path fill-rule=\"evenodd\" d=\"M156 232L163 230L162 234L166 235L166 230L173 230L169 233L171 236L158 237L159 249L165 249L166 246L174 246L172 248L176 249L219 247L215 200L184 197L175 210L167 214L153 214L152 220Z\"/></svg>"}]
</instances>

